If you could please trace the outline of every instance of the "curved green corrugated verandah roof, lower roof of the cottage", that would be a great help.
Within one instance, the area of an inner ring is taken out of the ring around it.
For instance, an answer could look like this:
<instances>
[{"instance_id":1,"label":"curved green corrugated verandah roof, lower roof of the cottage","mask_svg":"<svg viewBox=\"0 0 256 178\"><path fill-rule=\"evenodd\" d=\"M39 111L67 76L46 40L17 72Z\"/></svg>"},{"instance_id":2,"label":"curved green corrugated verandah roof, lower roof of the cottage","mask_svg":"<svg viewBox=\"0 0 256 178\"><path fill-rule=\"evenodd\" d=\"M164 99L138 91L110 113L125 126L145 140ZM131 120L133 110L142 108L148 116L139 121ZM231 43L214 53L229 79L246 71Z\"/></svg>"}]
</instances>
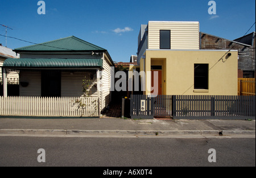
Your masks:
<instances>
[{"instance_id":1,"label":"curved green corrugated verandah roof, lower roof of the cottage","mask_svg":"<svg viewBox=\"0 0 256 178\"><path fill-rule=\"evenodd\" d=\"M3 67L13 68L86 68L102 67L102 59L6 59Z\"/></svg>"}]
</instances>

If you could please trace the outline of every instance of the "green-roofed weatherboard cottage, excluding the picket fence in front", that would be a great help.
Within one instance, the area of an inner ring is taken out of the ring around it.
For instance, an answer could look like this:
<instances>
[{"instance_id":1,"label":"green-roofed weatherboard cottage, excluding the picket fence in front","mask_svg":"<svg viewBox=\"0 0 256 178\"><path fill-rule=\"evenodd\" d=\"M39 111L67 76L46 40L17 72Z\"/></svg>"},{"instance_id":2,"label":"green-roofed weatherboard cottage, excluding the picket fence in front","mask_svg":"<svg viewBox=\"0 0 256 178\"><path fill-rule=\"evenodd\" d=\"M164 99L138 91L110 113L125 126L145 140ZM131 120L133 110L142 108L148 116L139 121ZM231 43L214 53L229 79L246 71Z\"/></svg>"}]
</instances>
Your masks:
<instances>
[{"instance_id":1,"label":"green-roofed weatherboard cottage, excluding the picket fence in front","mask_svg":"<svg viewBox=\"0 0 256 178\"><path fill-rule=\"evenodd\" d=\"M83 79L90 80L90 97L98 98L99 113L110 102L108 51L75 36L16 48L20 59L3 63L4 96L7 97L6 71L19 71L20 97L81 97Z\"/></svg>"}]
</instances>

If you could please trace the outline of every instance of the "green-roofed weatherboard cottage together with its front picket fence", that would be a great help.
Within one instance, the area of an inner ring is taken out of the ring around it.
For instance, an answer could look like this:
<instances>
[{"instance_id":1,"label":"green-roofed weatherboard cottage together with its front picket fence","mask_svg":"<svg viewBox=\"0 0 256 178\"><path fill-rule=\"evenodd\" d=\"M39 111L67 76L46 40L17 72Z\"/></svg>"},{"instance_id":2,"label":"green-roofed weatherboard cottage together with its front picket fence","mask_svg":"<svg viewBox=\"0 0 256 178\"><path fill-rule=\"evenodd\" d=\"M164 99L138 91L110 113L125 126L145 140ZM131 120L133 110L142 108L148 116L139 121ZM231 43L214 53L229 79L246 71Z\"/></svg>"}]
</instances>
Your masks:
<instances>
[{"instance_id":1,"label":"green-roofed weatherboard cottage together with its front picket fence","mask_svg":"<svg viewBox=\"0 0 256 178\"><path fill-rule=\"evenodd\" d=\"M91 100L85 101L84 106L88 108L85 108L87 114L84 115L100 116L109 105L114 63L106 49L69 36L13 51L19 53L20 58L9 58L3 63L2 100L8 97L6 71L12 69L19 71L18 99L25 98L19 102L29 102L25 106L11 106L15 107L14 113L9 111L7 115L79 116L81 113L72 107L74 101L84 94L84 79L90 81L89 98L97 101L93 105L89 104Z\"/></svg>"}]
</instances>

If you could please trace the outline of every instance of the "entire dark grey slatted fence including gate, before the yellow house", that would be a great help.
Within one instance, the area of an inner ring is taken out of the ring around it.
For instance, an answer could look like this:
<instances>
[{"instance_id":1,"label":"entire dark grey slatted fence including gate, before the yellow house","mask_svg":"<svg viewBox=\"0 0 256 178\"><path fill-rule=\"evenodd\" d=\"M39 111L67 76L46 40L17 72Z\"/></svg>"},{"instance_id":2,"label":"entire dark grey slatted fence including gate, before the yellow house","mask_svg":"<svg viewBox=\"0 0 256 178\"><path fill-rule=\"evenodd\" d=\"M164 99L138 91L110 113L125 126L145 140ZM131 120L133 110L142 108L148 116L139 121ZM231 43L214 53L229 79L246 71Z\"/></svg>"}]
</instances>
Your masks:
<instances>
[{"instance_id":1,"label":"entire dark grey slatted fence including gate, before the yellow house","mask_svg":"<svg viewBox=\"0 0 256 178\"><path fill-rule=\"evenodd\" d=\"M144 108L142 109L142 102ZM131 96L131 118L255 119L255 96Z\"/></svg>"}]
</instances>

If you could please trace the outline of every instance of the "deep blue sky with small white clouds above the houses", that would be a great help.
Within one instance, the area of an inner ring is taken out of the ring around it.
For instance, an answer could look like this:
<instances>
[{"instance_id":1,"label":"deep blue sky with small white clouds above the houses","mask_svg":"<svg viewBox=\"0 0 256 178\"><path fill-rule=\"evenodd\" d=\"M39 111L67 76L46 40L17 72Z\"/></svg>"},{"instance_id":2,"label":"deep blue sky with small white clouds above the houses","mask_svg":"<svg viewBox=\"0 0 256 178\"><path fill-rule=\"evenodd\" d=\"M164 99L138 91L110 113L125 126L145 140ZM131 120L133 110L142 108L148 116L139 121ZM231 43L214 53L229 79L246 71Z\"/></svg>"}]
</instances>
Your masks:
<instances>
[{"instance_id":1,"label":"deep blue sky with small white clouds above the houses","mask_svg":"<svg viewBox=\"0 0 256 178\"><path fill-rule=\"evenodd\" d=\"M255 22L255 0L216 0L216 15L208 14L208 0L45 0L46 15L39 15L38 0L0 0L0 24L14 30L7 35L34 43L76 36L108 49L114 61L128 62L137 53L141 24L149 20L199 21L200 31L236 39ZM255 26L250 32L255 31ZM0 26L5 35L5 27ZM5 37L0 36L5 45ZM7 39L7 47L30 43Z\"/></svg>"}]
</instances>

